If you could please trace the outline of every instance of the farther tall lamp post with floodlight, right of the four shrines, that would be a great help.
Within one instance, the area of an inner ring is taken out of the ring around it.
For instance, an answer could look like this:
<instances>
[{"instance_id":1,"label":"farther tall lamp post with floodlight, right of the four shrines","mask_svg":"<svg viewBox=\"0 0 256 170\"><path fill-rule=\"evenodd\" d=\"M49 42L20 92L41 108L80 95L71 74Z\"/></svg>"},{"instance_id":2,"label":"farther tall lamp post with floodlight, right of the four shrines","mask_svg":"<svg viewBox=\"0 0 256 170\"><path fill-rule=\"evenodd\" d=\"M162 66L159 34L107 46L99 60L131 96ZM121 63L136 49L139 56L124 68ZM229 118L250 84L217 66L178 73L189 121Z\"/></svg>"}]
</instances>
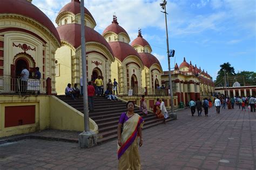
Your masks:
<instances>
[{"instance_id":1,"label":"farther tall lamp post with floodlight, right of the four shrines","mask_svg":"<svg viewBox=\"0 0 256 170\"><path fill-rule=\"evenodd\" d=\"M166 44L167 44L167 58L168 58L168 70L169 70L169 86L170 86L170 96L171 96L171 113L173 113L173 94L172 94L172 76L171 76L171 66L170 66L170 51L169 51L169 39L168 39L168 29L167 29L167 17L166 17L166 0L163 1L163 3L160 4L162 8L164 9L165 14L165 28L166 28Z\"/></svg>"}]
</instances>

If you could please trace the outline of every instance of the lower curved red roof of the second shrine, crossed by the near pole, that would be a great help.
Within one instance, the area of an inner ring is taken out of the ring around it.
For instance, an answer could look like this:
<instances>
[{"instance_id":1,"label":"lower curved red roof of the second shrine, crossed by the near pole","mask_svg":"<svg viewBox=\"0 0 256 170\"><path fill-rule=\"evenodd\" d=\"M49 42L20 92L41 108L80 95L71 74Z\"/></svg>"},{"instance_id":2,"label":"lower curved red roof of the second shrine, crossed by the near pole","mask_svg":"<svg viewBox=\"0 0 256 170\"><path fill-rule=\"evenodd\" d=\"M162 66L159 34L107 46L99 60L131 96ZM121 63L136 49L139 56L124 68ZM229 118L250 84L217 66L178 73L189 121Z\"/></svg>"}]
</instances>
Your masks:
<instances>
[{"instance_id":1,"label":"lower curved red roof of the second shrine, crossed by the near pole","mask_svg":"<svg viewBox=\"0 0 256 170\"><path fill-rule=\"evenodd\" d=\"M59 36L61 40L65 40L66 42L73 45L73 47L77 48L81 45L81 25L80 24L65 24L57 27L59 32ZM110 45L106 42L106 40L95 30L85 26L85 40L86 42L97 42L103 44L113 55Z\"/></svg>"}]
</instances>

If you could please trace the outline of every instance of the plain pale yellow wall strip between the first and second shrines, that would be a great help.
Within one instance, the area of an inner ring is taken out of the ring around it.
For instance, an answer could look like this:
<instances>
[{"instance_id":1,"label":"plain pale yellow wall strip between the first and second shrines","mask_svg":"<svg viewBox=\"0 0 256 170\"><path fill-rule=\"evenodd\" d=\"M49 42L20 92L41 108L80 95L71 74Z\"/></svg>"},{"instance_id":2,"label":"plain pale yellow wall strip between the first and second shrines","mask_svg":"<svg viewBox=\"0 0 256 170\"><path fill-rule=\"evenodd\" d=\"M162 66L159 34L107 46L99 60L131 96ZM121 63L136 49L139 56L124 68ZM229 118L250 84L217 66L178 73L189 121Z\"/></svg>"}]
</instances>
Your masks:
<instances>
[{"instance_id":1,"label":"plain pale yellow wall strip between the first and second shrines","mask_svg":"<svg viewBox=\"0 0 256 170\"><path fill-rule=\"evenodd\" d=\"M65 94L66 86L71 83L71 55L71 48L65 45L56 51L55 57L59 64L59 76L55 78L57 94Z\"/></svg>"}]
</instances>

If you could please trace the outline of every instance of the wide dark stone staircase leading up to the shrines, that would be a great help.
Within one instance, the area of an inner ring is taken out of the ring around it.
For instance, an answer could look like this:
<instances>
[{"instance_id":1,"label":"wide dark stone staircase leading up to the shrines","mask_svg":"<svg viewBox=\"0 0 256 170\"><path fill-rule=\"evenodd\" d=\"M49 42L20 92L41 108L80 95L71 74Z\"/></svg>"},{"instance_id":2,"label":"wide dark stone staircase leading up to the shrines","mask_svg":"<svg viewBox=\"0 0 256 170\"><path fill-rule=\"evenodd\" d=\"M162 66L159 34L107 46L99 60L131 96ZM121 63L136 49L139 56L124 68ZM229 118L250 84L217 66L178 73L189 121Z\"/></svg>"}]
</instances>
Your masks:
<instances>
[{"instance_id":1,"label":"wide dark stone staircase leading up to the shrines","mask_svg":"<svg viewBox=\"0 0 256 170\"><path fill-rule=\"evenodd\" d=\"M73 100L65 96L57 96L60 100L69 104L80 112L84 112L83 99ZM95 97L95 110L89 112L89 117L98 125L98 143L106 142L117 138L117 124L120 114L126 112L126 103L123 101L111 101L104 97ZM134 108L134 112L140 114L139 107ZM153 112L147 116L140 114L144 119L143 129L163 123L163 119L157 119ZM167 119L170 121L172 118Z\"/></svg>"}]
</instances>

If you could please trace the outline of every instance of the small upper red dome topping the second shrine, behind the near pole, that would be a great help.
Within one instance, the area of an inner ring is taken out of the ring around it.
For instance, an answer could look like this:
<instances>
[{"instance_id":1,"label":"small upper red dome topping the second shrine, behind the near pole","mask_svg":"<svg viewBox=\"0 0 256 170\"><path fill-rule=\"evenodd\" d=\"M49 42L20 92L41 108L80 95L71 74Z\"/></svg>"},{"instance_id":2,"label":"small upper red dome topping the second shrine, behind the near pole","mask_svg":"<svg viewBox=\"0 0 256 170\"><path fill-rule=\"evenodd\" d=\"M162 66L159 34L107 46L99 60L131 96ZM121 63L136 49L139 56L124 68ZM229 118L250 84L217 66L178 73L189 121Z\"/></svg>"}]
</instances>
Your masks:
<instances>
[{"instance_id":1,"label":"small upper red dome topping the second shrine, behind the near pole","mask_svg":"<svg viewBox=\"0 0 256 170\"><path fill-rule=\"evenodd\" d=\"M59 13L62 13L62 12L65 12L65 11L71 12L71 13L77 15L77 13L80 13L80 1L79 0L71 0L70 3L66 4L65 6L63 6L62 9L60 9ZM91 12L89 10L84 8L84 13L89 15L93 19L93 21L95 22L95 20L92 17Z\"/></svg>"}]
</instances>

